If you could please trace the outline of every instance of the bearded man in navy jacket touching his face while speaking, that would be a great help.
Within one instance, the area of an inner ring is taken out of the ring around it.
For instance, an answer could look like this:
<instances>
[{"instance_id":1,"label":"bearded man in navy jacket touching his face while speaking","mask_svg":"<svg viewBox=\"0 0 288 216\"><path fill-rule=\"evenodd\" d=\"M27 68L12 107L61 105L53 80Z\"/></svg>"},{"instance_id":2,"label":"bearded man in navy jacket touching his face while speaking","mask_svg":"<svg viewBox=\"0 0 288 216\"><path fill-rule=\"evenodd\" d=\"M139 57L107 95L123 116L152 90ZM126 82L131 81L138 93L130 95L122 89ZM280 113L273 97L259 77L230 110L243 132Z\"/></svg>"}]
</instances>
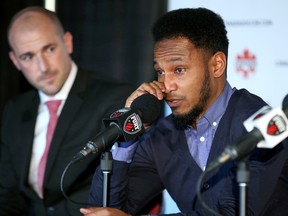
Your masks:
<instances>
[{"instance_id":1,"label":"bearded man in navy jacket touching his face while speaking","mask_svg":"<svg viewBox=\"0 0 288 216\"><path fill-rule=\"evenodd\" d=\"M253 151L248 152L247 212L239 211L243 210L237 178L239 160L228 160L208 172L207 166L228 145L247 134L243 122L267 105L245 89L232 88L227 81L228 38L223 19L205 8L178 9L155 23L153 36L158 79L141 85L127 99L126 107L139 95L150 93L165 100L172 114L160 119L129 147L115 146L109 207L101 207L99 182L103 177L98 169L90 202L100 207L83 208L81 212L87 216L138 215L149 200L167 189L180 210L173 215L272 216L275 213L271 207L287 215L287 142L273 149L252 146ZM252 145L250 141L248 144ZM201 200L196 186L204 171ZM271 201L270 212L265 212Z\"/></svg>"}]
</instances>

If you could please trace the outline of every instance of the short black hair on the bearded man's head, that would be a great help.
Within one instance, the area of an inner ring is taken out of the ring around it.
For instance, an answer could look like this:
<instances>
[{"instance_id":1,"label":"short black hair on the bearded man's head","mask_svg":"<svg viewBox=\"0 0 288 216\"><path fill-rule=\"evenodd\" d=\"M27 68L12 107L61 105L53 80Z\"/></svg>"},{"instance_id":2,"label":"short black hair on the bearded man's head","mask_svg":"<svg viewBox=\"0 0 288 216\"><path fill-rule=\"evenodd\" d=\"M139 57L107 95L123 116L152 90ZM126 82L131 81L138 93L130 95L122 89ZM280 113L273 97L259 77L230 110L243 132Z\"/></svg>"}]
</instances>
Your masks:
<instances>
[{"instance_id":1,"label":"short black hair on the bearded man's head","mask_svg":"<svg viewBox=\"0 0 288 216\"><path fill-rule=\"evenodd\" d=\"M215 54L222 51L228 57L227 31L223 19L206 8L182 8L160 17L152 28L155 42L185 37L196 48Z\"/></svg>"}]
</instances>

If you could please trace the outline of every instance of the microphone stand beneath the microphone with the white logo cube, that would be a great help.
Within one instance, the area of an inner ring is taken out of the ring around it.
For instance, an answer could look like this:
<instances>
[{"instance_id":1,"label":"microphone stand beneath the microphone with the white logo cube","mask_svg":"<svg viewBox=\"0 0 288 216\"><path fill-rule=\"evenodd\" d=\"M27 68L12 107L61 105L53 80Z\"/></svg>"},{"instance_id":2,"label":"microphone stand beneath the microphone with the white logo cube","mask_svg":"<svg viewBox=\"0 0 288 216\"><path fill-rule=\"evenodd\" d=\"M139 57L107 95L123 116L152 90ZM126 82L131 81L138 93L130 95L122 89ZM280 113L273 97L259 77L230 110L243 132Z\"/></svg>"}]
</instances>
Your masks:
<instances>
[{"instance_id":1,"label":"microphone stand beneath the microphone with the white logo cube","mask_svg":"<svg viewBox=\"0 0 288 216\"><path fill-rule=\"evenodd\" d=\"M237 182L239 184L239 200L240 209L239 216L246 216L247 214L247 187L250 181L250 172L248 157L243 158L238 162L237 167Z\"/></svg>"}]
</instances>

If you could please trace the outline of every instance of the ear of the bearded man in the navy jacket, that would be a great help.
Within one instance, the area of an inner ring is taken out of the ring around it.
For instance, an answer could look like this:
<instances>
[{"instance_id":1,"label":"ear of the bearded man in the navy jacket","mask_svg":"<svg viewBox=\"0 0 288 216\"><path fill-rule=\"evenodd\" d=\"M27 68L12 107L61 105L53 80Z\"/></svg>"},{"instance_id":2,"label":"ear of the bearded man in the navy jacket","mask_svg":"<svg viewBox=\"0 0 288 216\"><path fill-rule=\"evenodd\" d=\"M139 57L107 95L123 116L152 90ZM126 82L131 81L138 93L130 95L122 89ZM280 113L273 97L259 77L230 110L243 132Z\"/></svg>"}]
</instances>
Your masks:
<instances>
[{"instance_id":1,"label":"ear of the bearded man in the navy jacket","mask_svg":"<svg viewBox=\"0 0 288 216\"><path fill-rule=\"evenodd\" d=\"M213 74L215 78L225 75L226 70L226 55L223 52L216 52L212 57Z\"/></svg>"}]
</instances>

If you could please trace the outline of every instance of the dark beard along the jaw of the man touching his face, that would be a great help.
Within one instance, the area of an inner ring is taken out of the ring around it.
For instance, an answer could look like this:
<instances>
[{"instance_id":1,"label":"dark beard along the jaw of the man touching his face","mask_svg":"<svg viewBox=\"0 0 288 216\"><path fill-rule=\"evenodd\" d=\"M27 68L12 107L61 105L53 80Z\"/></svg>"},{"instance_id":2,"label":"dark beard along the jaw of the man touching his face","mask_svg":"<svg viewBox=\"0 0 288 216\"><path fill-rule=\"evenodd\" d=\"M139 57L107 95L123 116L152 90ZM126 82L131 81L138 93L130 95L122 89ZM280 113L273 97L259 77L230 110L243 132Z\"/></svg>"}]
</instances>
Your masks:
<instances>
[{"instance_id":1,"label":"dark beard along the jaw of the man touching his face","mask_svg":"<svg viewBox=\"0 0 288 216\"><path fill-rule=\"evenodd\" d=\"M180 130L185 130L191 125L196 125L196 121L199 118L199 116L203 113L209 97L210 97L210 79L209 79L209 73L207 71L205 73L204 81L202 83L202 87L200 90L199 102L194 107L192 107L188 113L180 115L172 114L176 128Z\"/></svg>"}]
</instances>

